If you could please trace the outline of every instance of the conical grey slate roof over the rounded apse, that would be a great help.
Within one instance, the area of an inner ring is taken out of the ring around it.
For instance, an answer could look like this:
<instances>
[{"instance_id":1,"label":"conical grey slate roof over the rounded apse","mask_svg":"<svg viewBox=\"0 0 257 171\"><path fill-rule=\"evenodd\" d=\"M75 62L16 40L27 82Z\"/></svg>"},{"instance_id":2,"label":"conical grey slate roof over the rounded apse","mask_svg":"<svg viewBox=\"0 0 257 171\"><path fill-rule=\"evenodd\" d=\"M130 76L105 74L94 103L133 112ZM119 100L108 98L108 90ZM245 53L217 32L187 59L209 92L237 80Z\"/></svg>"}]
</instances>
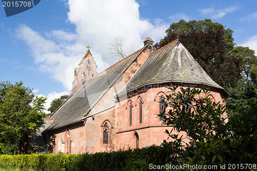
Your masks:
<instances>
[{"instance_id":1,"label":"conical grey slate roof over the rounded apse","mask_svg":"<svg viewBox=\"0 0 257 171\"><path fill-rule=\"evenodd\" d=\"M224 89L209 77L177 40L154 51L118 94L159 82L196 83Z\"/></svg>"}]
</instances>

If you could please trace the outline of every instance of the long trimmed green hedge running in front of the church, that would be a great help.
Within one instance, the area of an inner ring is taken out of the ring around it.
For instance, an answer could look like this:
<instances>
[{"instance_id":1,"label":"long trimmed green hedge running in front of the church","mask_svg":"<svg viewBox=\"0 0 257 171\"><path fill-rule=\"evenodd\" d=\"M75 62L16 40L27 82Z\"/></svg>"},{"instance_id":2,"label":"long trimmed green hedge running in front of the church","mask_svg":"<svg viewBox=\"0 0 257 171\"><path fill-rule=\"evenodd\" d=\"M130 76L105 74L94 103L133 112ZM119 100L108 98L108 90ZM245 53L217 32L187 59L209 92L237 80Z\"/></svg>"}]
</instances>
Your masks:
<instances>
[{"instance_id":1,"label":"long trimmed green hedge running in front of the church","mask_svg":"<svg viewBox=\"0 0 257 171\"><path fill-rule=\"evenodd\" d=\"M148 170L150 163L170 163L171 151L168 146L153 145L95 154L0 155L0 170Z\"/></svg>"}]
</instances>

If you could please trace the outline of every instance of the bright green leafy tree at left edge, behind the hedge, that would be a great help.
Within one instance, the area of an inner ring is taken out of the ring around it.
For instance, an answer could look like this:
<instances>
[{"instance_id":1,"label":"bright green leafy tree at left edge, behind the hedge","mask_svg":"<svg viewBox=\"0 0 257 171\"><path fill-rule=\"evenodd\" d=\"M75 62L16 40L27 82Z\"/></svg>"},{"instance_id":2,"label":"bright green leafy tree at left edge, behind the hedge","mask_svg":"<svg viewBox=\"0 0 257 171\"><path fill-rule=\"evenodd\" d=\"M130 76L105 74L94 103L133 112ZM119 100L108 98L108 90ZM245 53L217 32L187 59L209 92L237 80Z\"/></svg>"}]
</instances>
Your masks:
<instances>
[{"instance_id":1,"label":"bright green leafy tree at left edge, behind the hedge","mask_svg":"<svg viewBox=\"0 0 257 171\"><path fill-rule=\"evenodd\" d=\"M23 82L0 82L0 153L29 153L31 131L44 123L45 101Z\"/></svg>"}]
</instances>

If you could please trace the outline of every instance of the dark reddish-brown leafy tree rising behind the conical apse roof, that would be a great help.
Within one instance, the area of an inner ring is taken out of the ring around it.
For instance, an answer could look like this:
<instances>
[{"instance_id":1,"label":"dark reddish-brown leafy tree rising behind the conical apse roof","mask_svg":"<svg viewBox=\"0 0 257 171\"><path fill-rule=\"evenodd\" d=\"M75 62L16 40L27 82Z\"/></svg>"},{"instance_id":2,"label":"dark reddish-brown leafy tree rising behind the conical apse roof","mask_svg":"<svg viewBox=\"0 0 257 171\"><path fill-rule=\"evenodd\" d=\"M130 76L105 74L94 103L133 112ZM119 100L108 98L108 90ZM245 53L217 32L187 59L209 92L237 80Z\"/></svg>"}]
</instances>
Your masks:
<instances>
[{"instance_id":1,"label":"dark reddish-brown leafy tree rising behind the conical apse roof","mask_svg":"<svg viewBox=\"0 0 257 171\"><path fill-rule=\"evenodd\" d=\"M242 62L241 59L229 55L234 46L232 30L225 29L219 23L212 23L211 20L180 20L171 24L166 31L167 36L155 44L156 48L177 39L178 29L179 41L216 83L224 88L236 85L241 78Z\"/></svg>"}]
</instances>

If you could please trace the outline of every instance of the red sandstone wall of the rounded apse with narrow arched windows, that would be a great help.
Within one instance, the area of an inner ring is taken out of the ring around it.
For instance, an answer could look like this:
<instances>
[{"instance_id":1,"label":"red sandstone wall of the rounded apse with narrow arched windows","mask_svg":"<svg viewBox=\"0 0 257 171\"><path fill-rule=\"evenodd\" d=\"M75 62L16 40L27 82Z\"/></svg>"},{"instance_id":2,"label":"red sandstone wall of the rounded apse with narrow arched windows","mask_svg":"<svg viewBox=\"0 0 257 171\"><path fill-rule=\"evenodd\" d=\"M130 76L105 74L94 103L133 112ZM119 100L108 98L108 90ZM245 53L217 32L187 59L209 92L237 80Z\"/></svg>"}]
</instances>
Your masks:
<instances>
[{"instance_id":1,"label":"red sandstone wall of the rounded apse with narrow arched windows","mask_svg":"<svg viewBox=\"0 0 257 171\"><path fill-rule=\"evenodd\" d=\"M186 88L186 87L184 87ZM178 87L177 90L180 90ZM160 145L168 139L165 130L170 127L162 126L162 121L156 115L159 113L159 97L170 91L166 87L150 88L145 92L139 92L136 96L117 104L117 149L135 147L135 132L139 137L139 147L147 145ZM224 102L225 98L216 90L211 90L210 95L215 102ZM139 123L139 98L142 99L142 123ZM129 123L129 104L132 103L132 125ZM186 136L182 132L180 136ZM172 139L169 139L172 141Z\"/></svg>"}]
</instances>

